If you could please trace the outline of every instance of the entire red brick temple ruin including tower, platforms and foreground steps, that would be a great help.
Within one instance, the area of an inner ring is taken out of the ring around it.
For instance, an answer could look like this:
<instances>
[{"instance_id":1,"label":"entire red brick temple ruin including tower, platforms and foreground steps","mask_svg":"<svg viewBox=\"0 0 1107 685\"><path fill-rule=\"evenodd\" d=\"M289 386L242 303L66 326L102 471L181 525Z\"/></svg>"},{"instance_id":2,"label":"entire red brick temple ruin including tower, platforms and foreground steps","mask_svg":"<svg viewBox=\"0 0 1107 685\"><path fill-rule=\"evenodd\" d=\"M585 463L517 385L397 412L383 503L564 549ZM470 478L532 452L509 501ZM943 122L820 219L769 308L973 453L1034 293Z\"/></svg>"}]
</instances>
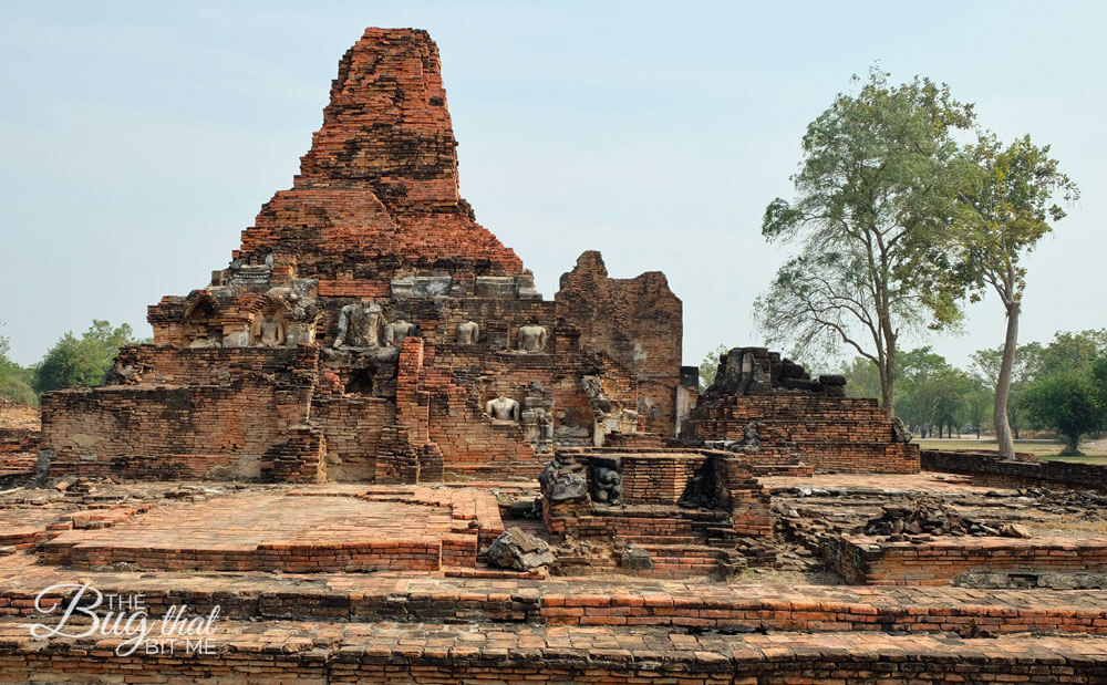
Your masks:
<instances>
[{"instance_id":1,"label":"entire red brick temple ruin including tower, platforms and foreground steps","mask_svg":"<svg viewBox=\"0 0 1107 685\"><path fill-rule=\"evenodd\" d=\"M665 277L544 299L456 145L434 42L366 30L229 266L0 404L0 679L1107 682L1107 468L921 453L765 347L701 394ZM84 585L218 622L29 633Z\"/></svg>"}]
</instances>

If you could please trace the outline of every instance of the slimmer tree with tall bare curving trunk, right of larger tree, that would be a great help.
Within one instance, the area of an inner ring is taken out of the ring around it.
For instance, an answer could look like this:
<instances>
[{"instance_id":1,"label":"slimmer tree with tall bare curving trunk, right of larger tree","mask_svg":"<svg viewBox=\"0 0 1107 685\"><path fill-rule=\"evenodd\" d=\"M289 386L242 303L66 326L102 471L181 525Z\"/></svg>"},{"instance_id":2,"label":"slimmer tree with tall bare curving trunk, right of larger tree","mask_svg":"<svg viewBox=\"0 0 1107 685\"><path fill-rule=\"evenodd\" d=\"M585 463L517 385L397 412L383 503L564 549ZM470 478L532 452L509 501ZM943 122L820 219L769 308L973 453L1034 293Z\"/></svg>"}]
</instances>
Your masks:
<instances>
[{"instance_id":1,"label":"slimmer tree with tall bare curving trunk, right of larger tree","mask_svg":"<svg viewBox=\"0 0 1107 685\"><path fill-rule=\"evenodd\" d=\"M1000 455L1014 457L1007 406L1018 346L1018 315L1026 289L1025 257L1065 217L1054 201L1079 197L1079 189L1049 157L1049 146L1037 147L1030 136L1003 146L995 134L982 134L965 149L975 167L976 181L964 199L974 220L961 222L962 250L976 292L991 288L1003 303L1006 333L995 381L993 423Z\"/></svg>"}]
</instances>

